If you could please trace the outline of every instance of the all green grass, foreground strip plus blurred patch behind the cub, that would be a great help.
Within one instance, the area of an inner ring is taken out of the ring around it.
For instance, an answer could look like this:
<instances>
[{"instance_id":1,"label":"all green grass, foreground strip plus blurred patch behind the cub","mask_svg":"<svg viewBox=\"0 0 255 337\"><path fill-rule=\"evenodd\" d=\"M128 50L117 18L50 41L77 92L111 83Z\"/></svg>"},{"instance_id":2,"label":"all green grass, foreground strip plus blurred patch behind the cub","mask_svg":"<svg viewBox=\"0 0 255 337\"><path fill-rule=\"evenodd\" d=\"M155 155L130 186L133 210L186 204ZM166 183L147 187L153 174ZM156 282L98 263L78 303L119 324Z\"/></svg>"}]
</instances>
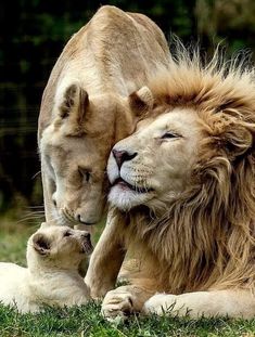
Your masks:
<instances>
[{"instance_id":1,"label":"all green grass, foreground strip plus blurred patch behind the cub","mask_svg":"<svg viewBox=\"0 0 255 337\"><path fill-rule=\"evenodd\" d=\"M0 221L0 261L25 264L25 247L38 225L25 225L7 219ZM0 285L1 286L1 285ZM111 324L100 314L100 304L72 309L47 308L40 314L18 314L14 309L0 306L1 337L254 337L255 320L132 316L128 322Z\"/></svg>"}]
</instances>

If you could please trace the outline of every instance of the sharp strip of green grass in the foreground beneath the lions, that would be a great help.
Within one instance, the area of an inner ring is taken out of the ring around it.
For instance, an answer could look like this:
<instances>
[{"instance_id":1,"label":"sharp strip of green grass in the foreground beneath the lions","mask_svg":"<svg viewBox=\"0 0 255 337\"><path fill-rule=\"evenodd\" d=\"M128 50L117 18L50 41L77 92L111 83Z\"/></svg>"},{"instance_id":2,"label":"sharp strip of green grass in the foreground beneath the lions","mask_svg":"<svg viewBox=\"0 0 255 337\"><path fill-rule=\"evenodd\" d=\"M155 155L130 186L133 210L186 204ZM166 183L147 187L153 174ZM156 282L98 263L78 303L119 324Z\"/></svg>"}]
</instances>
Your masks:
<instances>
[{"instance_id":1,"label":"sharp strip of green grass in the foreground beneath the lions","mask_svg":"<svg viewBox=\"0 0 255 337\"><path fill-rule=\"evenodd\" d=\"M40 314L20 315L0 306L0 335L5 336L255 336L255 321L221 319L139 317L111 324L100 315L100 306L73 309L47 308Z\"/></svg>"}]
</instances>

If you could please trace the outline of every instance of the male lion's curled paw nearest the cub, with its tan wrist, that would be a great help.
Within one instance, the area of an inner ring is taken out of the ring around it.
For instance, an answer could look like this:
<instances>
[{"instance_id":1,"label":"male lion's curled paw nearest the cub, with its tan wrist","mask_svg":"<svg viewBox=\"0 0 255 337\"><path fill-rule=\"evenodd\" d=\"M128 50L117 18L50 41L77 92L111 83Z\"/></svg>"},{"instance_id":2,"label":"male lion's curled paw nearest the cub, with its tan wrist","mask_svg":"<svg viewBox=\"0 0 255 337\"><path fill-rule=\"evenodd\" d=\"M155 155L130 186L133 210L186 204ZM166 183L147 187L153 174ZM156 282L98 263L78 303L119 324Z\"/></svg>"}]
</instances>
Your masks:
<instances>
[{"instance_id":1,"label":"male lion's curled paw nearest the cub, with its tan wrist","mask_svg":"<svg viewBox=\"0 0 255 337\"><path fill-rule=\"evenodd\" d=\"M118 287L106 294L102 303L102 314L107 320L114 320L116 316L124 319L133 312L140 312L153 294L153 290L136 285Z\"/></svg>"}]
</instances>

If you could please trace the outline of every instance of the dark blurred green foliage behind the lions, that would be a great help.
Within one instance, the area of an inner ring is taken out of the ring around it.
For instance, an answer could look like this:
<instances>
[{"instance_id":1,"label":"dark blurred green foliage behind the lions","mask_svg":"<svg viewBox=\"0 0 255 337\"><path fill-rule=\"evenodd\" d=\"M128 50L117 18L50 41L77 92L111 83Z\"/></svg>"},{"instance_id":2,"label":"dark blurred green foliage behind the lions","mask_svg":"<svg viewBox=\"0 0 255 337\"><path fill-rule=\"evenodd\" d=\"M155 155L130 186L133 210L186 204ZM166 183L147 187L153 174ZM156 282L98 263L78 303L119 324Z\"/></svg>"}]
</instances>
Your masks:
<instances>
[{"instance_id":1,"label":"dark blurred green foliage behind the lions","mask_svg":"<svg viewBox=\"0 0 255 337\"><path fill-rule=\"evenodd\" d=\"M225 40L229 52L255 50L254 0L14 0L0 17L0 211L42 204L37 118L50 72L69 37L101 4L141 12L169 39L200 40L205 50Z\"/></svg>"}]
</instances>

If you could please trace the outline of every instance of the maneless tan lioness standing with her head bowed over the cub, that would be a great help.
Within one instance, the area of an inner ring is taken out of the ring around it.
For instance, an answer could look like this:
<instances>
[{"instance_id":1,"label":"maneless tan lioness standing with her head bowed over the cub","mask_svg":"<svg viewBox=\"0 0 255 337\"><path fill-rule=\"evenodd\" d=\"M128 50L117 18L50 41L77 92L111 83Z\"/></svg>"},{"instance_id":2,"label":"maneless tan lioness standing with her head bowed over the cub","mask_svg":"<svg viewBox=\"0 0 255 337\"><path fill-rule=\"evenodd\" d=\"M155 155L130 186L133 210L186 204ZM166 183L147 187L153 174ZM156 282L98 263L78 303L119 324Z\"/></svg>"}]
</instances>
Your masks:
<instances>
[{"instance_id":1,"label":"maneless tan lioness standing with her head bowed over the cub","mask_svg":"<svg viewBox=\"0 0 255 337\"><path fill-rule=\"evenodd\" d=\"M47 221L100 220L111 147L146 108L148 91L132 92L168 60L164 35L150 18L110 5L68 41L43 92L38 125Z\"/></svg>"}]
</instances>

